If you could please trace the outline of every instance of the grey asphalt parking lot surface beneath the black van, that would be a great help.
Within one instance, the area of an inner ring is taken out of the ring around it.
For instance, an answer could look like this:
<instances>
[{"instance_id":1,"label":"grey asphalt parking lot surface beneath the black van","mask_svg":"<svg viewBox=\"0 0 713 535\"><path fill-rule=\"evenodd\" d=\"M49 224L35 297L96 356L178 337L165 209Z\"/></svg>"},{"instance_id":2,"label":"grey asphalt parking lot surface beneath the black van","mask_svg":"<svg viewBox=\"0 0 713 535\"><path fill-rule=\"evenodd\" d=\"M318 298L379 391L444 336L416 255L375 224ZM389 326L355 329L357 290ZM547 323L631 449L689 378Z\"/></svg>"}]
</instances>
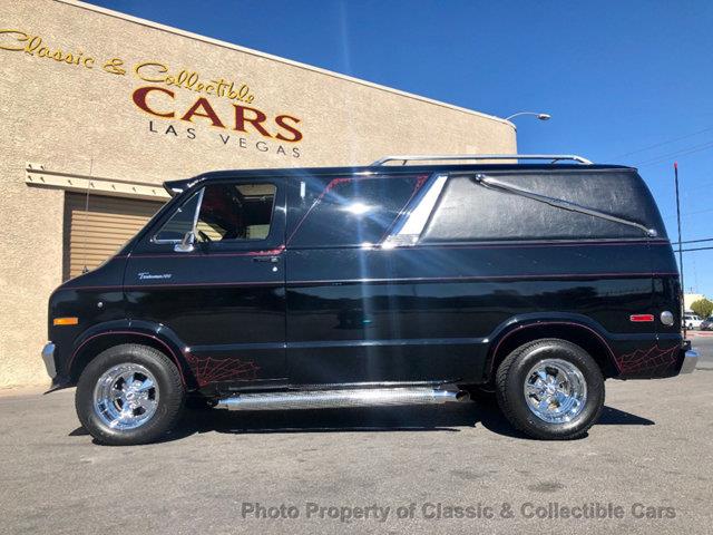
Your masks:
<instances>
[{"instance_id":1,"label":"grey asphalt parking lot surface beneath the black van","mask_svg":"<svg viewBox=\"0 0 713 535\"><path fill-rule=\"evenodd\" d=\"M0 533L711 533L702 347L691 376L607 381L599 424L565 442L462 403L191 411L162 444L116 448L79 427L72 391L3 396Z\"/></svg>"}]
</instances>

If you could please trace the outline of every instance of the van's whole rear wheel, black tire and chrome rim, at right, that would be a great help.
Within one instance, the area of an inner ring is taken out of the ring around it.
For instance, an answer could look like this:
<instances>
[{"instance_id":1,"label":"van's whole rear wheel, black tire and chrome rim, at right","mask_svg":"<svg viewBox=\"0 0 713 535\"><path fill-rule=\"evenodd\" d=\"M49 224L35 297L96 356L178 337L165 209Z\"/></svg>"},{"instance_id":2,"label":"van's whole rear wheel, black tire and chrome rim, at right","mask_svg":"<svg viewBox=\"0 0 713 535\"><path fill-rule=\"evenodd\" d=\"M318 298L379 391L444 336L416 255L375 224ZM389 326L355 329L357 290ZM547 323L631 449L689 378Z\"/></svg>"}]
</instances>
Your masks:
<instances>
[{"instance_id":1,"label":"van's whole rear wheel, black tire and chrome rim, at right","mask_svg":"<svg viewBox=\"0 0 713 535\"><path fill-rule=\"evenodd\" d=\"M604 407L604 377L595 360L566 340L536 340L512 351L496 377L498 405L534 438L583 436Z\"/></svg>"}]
</instances>

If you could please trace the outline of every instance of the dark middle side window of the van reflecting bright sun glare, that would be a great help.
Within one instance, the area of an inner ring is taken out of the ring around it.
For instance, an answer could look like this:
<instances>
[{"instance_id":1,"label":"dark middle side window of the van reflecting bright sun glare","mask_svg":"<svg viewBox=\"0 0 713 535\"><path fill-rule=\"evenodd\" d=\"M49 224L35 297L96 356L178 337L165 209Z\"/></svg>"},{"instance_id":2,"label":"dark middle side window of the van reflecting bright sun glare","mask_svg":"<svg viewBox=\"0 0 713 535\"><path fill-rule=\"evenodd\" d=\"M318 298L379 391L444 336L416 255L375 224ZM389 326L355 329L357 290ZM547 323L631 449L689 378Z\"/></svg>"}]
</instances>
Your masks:
<instances>
[{"instance_id":1,"label":"dark middle side window of the van reflecting bright sun glare","mask_svg":"<svg viewBox=\"0 0 713 535\"><path fill-rule=\"evenodd\" d=\"M333 177L310 184L289 245L380 243L422 189L429 175Z\"/></svg>"}]
</instances>

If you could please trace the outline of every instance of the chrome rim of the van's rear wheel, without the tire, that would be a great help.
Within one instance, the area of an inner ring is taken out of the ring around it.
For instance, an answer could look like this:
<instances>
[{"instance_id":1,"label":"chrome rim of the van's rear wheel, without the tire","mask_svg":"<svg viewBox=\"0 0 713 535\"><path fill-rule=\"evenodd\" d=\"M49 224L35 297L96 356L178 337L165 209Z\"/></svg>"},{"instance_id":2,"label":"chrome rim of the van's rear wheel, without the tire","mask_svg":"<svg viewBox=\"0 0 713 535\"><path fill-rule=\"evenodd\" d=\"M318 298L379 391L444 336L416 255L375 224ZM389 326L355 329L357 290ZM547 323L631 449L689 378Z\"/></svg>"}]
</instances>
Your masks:
<instances>
[{"instance_id":1,"label":"chrome rim of the van's rear wheel, without the tire","mask_svg":"<svg viewBox=\"0 0 713 535\"><path fill-rule=\"evenodd\" d=\"M529 409L548 424L570 421L587 401L584 374L561 359L546 359L535 364L526 376L524 390Z\"/></svg>"}]
</instances>

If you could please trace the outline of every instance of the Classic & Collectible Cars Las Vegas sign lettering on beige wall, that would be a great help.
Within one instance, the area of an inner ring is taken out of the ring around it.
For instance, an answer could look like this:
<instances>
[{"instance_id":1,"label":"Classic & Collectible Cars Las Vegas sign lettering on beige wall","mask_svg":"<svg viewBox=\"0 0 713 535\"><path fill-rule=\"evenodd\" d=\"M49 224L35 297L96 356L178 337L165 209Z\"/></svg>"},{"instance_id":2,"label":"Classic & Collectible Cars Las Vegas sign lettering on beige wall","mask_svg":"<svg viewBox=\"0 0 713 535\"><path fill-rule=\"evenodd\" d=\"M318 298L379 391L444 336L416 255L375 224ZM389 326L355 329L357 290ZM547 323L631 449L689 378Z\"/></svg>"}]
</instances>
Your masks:
<instances>
[{"instance_id":1,"label":"Classic & Collectible Cars Las Vegas sign lettering on beige wall","mask_svg":"<svg viewBox=\"0 0 713 535\"><path fill-rule=\"evenodd\" d=\"M153 135L209 139L226 147L301 156L302 120L294 114L271 115L262 110L245 82L224 76L204 77L189 68L174 69L155 59L129 64L120 57L100 58L14 29L0 29L0 50L53 61L64 68L131 77L137 87L128 98L137 113L145 115L145 127Z\"/></svg>"}]
</instances>

